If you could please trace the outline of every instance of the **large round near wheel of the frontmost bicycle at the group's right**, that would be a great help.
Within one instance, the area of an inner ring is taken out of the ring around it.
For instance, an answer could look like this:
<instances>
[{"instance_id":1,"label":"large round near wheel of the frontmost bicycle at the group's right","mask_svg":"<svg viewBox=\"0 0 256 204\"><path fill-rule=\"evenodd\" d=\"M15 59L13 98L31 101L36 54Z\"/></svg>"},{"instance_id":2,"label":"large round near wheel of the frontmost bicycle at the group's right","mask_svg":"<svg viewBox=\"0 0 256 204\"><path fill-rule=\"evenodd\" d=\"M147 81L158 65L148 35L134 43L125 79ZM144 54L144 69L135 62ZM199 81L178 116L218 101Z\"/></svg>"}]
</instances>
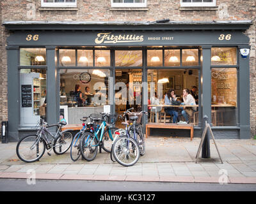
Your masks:
<instances>
[{"instance_id":1,"label":"large round near wheel of the frontmost bicycle at the group's right","mask_svg":"<svg viewBox=\"0 0 256 204\"><path fill-rule=\"evenodd\" d=\"M140 150L136 140L127 136L120 136L113 143L113 156L123 166L134 165L139 157Z\"/></svg>"}]
</instances>

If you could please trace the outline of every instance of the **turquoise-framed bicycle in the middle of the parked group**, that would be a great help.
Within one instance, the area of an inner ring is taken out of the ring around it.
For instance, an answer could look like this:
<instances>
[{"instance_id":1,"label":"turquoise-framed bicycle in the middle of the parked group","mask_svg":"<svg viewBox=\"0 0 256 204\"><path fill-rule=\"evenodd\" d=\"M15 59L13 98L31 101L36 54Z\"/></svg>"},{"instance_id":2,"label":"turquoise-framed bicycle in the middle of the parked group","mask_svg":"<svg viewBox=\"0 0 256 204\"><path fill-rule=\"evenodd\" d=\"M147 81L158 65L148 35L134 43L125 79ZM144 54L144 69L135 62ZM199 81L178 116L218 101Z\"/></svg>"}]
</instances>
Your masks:
<instances>
[{"instance_id":1,"label":"turquoise-framed bicycle in the middle of the parked group","mask_svg":"<svg viewBox=\"0 0 256 204\"><path fill-rule=\"evenodd\" d=\"M94 133L86 132L81 137L80 151L83 158L87 161L92 161L95 159L98 152L98 146L108 153L111 152L111 145L113 141L112 135L115 133L117 128L114 126L109 126L107 122L115 124L117 115L111 115L108 113L101 114L102 118L90 117L93 122L102 122L100 124L100 128ZM104 119L106 117L107 119Z\"/></svg>"}]
</instances>

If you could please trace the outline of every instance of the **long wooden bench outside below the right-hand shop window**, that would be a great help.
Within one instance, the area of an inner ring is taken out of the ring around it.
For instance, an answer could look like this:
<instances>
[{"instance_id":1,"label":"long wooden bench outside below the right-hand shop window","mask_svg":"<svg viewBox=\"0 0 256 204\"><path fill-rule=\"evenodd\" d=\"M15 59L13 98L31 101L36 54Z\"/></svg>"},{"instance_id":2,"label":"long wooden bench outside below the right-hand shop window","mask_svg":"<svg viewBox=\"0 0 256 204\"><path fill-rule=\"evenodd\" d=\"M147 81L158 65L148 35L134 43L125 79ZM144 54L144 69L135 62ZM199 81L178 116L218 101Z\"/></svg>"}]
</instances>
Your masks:
<instances>
[{"instance_id":1,"label":"long wooden bench outside below the right-hand shop window","mask_svg":"<svg viewBox=\"0 0 256 204\"><path fill-rule=\"evenodd\" d=\"M149 136L150 128L190 129L190 140L192 140L193 136L194 136L194 125L193 124L148 122L146 124L146 138L148 138L148 136Z\"/></svg>"}]
</instances>

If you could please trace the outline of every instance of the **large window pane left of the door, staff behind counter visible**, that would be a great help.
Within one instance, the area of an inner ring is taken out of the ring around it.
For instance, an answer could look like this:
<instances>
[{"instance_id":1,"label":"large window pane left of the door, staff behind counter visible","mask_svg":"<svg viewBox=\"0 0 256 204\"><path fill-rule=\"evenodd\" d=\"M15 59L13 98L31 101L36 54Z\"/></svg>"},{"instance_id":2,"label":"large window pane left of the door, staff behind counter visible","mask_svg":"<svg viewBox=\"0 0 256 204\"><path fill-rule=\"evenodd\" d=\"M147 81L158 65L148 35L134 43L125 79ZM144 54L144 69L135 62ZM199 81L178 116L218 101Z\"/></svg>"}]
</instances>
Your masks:
<instances>
[{"instance_id":1,"label":"large window pane left of the door, staff behind counter visible","mask_svg":"<svg viewBox=\"0 0 256 204\"><path fill-rule=\"evenodd\" d=\"M109 108L109 77L109 69L60 69L60 120L79 124Z\"/></svg>"}]
</instances>

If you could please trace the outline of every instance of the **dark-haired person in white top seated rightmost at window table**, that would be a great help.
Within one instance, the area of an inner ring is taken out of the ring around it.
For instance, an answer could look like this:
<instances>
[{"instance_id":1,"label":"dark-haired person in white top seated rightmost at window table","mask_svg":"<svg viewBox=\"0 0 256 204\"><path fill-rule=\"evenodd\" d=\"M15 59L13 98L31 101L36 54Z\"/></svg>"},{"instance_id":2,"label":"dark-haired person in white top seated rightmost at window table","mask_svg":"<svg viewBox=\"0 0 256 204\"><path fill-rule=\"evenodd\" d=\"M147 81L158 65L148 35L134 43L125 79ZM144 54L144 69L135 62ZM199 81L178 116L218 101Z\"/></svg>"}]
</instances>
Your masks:
<instances>
[{"instance_id":1,"label":"dark-haired person in white top seated rightmost at window table","mask_svg":"<svg viewBox=\"0 0 256 204\"><path fill-rule=\"evenodd\" d=\"M189 94L189 89L183 89L183 103L181 103L181 105L196 105L196 101L193 98L193 96L191 94ZM196 107L186 107L186 108L182 108L182 115L184 117L184 119L186 120L186 122L189 124L189 115L192 115L193 112L196 111ZM186 110L185 110L186 109Z\"/></svg>"}]
</instances>

